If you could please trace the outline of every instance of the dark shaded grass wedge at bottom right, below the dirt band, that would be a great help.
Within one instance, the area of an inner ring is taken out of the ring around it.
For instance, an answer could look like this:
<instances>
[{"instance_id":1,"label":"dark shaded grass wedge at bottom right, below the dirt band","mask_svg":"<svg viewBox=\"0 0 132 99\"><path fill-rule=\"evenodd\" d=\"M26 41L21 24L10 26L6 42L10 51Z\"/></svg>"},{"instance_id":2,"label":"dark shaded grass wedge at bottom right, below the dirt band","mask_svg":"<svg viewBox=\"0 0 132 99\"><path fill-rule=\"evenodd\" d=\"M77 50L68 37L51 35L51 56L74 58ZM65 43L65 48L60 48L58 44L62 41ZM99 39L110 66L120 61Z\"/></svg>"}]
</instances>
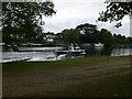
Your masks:
<instances>
[{"instance_id":1,"label":"dark shaded grass wedge at bottom right, below the dirt band","mask_svg":"<svg viewBox=\"0 0 132 99\"><path fill-rule=\"evenodd\" d=\"M23 97L130 97L130 74L118 75L109 78L96 79L68 89L55 90L46 95L29 94Z\"/></svg>"}]
</instances>

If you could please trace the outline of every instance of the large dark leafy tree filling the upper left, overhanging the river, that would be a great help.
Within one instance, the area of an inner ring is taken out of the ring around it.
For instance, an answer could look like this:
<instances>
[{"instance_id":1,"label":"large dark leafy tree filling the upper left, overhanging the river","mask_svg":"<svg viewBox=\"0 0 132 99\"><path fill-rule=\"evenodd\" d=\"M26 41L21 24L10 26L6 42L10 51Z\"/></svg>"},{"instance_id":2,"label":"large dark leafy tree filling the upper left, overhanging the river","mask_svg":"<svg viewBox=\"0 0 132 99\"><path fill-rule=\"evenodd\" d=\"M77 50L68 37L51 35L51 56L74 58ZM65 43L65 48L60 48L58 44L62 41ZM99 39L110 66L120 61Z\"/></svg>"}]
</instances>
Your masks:
<instances>
[{"instance_id":1,"label":"large dark leafy tree filling the upper left, overhanging the river","mask_svg":"<svg viewBox=\"0 0 132 99\"><path fill-rule=\"evenodd\" d=\"M2 2L2 40L6 48L42 41L42 16L54 13L56 11L51 1Z\"/></svg>"}]
</instances>

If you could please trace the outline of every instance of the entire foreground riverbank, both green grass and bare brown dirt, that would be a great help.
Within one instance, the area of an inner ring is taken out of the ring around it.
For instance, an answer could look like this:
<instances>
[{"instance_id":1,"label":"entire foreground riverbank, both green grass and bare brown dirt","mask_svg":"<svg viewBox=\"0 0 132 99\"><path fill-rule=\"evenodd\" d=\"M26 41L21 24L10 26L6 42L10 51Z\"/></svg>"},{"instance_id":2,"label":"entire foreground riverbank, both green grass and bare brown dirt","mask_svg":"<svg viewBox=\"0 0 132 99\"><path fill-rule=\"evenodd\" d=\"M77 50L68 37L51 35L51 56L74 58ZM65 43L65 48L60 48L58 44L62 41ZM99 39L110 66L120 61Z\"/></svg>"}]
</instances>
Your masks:
<instances>
[{"instance_id":1,"label":"entire foreground riverbank, both green grass and bare brown dirt","mask_svg":"<svg viewBox=\"0 0 132 99\"><path fill-rule=\"evenodd\" d=\"M130 97L130 58L3 64L3 97Z\"/></svg>"}]
</instances>

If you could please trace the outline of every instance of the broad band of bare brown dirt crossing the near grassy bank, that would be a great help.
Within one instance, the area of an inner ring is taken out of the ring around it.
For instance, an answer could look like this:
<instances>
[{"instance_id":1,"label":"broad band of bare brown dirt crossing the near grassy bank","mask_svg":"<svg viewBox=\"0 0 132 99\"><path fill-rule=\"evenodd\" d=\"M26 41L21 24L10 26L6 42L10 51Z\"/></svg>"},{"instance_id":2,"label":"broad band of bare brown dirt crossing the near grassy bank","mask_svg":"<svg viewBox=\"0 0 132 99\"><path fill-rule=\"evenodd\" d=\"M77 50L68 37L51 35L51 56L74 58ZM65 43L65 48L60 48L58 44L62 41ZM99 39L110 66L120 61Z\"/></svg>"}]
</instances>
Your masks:
<instances>
[{"instance_id":1,"label":"broad band of bare brown dirt crossing the near grassy bank","mask_svg":"<svg viewBox=\"0 0 132 99\"><path fill-rule=\"evenodd\" d=\"M98 80L107 80L129 72L129 59L111 59L87 66L3 74L3 97L45 97L56 96L56 92L63 96L62 91L75 90L80 85L98 84ZM100 85L102 84L103 81ZM79 94L76 96L82 95Z\"/></svg>"}]
</instances>

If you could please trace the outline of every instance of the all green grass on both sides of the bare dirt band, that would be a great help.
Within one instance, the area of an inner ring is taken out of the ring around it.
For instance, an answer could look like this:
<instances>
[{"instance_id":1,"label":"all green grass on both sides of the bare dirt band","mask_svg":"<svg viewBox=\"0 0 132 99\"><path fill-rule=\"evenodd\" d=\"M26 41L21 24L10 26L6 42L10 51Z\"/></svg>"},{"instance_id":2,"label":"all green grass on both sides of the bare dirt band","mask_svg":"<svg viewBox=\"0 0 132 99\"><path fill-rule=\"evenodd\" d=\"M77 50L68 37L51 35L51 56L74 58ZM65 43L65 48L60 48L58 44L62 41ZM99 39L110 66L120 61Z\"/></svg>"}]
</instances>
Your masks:
<instances>
[{"instance_id":1,"label":"all green grass on both sides of the bare dirt band","mask_svg":"<svg viewBox=\"0 0 132 99\"><path fill-rule=\"evenodd\" d=\"M20 73L26 70L42 69L42 68L65 68L74 66L88 66L90 64L97 64L108 61L128 61L132 56L121 56L121 57L108 57L108 56L96 56L88 58L77 58L68 61L57 61L57 62L37 62L37 63L7 63L2 65L3 73ZM128 64L127 64L128 65ZM125 66L125 64L124 64ZM95 70L97 68L91 67L86 70ZM92 75L73 75L67 78L58 78L61 82L65 80L80 80L79 85L69 85L67 88L62 90L47 91L45 95L43 92L35 91L26 92L23 97L130 97L131 96L131 81L130 81L130 68L121 67L113 68L107 73L94 73ZM122 72L128 72L125 74L119 74ZM119 74L119 75L114 75ZM108 76L106 76L108 75ZM99 79L98 79L99 77ZM92 79L97 78L97 79ZM91 80L85 80L91 79ZM81 80L85 80L81 82ZM54 81L53 81L54 82ZM58 81L59 84L59 81ZM45 85L45 84L32 84L26 85L28 87L34 87L34 85ZM59 85L58 85L59 86Z\"/></svg>"}]
</instances>

